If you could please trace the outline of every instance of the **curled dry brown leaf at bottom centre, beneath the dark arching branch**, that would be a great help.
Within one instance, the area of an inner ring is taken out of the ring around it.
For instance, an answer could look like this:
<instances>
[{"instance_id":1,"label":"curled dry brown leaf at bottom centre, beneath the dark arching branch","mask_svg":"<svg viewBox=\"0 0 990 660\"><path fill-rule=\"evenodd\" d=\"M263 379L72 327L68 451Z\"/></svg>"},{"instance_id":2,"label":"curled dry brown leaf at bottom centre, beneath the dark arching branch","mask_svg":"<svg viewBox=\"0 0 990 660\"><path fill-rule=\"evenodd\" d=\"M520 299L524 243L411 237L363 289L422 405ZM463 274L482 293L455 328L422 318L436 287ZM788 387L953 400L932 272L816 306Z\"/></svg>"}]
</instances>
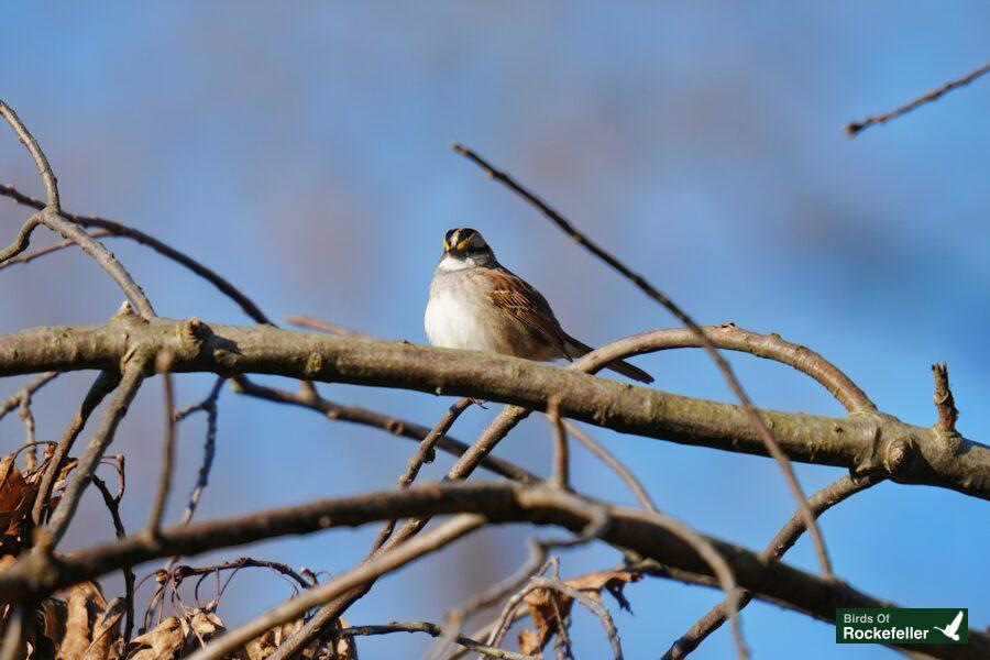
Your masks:
<instances>
[{"instance_id":1,"label":"curled dry brown leaf at bottom centre, beneath the dark arching branch","mask_svg":"<svg viewBox=\"0 0 990 660\"><path fill-rule=\"evenodd\" d=\"M636 571L595 571L564 581L568 586L585 594L587 597L602 602L602 592L607 591L623 609L629 609L629 602L623 594L623 587L629 582L642 579ZM537 629L524 630L519 634L519 649L529 654L536 654L558 631L562 625L561 619L566 618L571 612L574 600L559 591L550 588L535 588L526 594L522 602L529 607L529 615ZM526 650L524 649L526 645Z\"/></svg>"}]
</instances>

